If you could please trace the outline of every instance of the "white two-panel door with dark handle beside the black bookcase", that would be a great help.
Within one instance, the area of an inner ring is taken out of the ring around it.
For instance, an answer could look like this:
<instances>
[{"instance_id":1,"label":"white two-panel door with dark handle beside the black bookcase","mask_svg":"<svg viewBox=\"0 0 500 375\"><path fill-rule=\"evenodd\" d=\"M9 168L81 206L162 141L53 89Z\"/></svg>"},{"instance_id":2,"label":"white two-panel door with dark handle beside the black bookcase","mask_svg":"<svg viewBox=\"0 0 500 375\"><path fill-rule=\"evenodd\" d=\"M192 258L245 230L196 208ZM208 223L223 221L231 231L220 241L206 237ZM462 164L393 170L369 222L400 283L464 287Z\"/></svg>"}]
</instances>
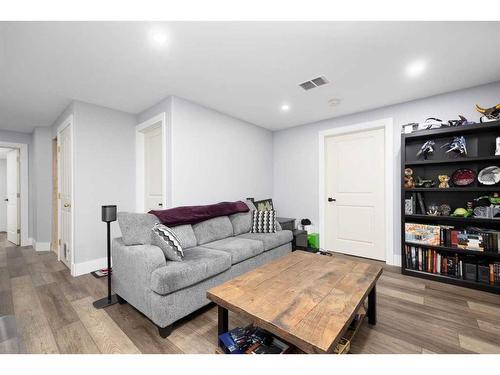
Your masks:
<instances>
[{"instance_id":1,"label":"white two-panel door with dark handle beside the black bookcase","mask_svg":"<svg viewBox=\"0 0 500 375\"><path fill-rule=\"evenodd\" d=\"M325 140L325 248L385 260L384 129Z\"/></svg>"}]
</instances>

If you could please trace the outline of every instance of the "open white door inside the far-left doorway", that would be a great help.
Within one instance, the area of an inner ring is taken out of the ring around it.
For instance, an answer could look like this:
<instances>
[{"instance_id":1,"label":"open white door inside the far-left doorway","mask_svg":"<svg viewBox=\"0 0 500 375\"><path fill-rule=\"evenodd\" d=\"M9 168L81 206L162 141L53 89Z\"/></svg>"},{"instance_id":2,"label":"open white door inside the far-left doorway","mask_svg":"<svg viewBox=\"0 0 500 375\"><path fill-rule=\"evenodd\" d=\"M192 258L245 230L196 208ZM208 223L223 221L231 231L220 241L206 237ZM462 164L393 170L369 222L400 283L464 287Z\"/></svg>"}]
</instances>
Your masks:
<instances>
[{"instance_id":1,"label":"open white door inside the far-left doorway","mask_svg":"<svg viewBox=\"0 0 500 375\"><path fill-rule=\"evenodd\" d=\"M20 244L20 181L17 149L7 152L7 239L13 244Z\"/></svg>"}]
</instances>

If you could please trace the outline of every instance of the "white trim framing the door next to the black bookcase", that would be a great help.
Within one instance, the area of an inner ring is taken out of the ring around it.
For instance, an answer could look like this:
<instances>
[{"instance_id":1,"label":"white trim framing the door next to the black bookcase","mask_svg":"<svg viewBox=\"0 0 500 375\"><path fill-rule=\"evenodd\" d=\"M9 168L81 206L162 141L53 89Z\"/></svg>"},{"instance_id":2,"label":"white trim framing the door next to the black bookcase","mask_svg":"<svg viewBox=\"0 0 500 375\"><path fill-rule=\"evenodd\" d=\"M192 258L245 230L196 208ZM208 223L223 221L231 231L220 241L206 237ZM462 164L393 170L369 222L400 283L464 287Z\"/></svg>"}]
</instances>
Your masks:
<instances>
[{"instance_id":1,"label":"white trim framing the door next to the black bookcase","mask_svg":"<svg viewBox=\"0 0 500 375\"><path fill-rule=\"evenodd\" d=\"M386 263L397 265L394 256L394 146L393 146L393 119L386 118L376 121L364 122L339 128L327 129L318 133L319 142L319 238L320 242L325 239L325 138L333 135L358 133L365 130L384 129L385 144L385 246ZM360 171L361 173L361 171ZM360 176L361 177L361 176Z\"/></svg>"}]
</instances>

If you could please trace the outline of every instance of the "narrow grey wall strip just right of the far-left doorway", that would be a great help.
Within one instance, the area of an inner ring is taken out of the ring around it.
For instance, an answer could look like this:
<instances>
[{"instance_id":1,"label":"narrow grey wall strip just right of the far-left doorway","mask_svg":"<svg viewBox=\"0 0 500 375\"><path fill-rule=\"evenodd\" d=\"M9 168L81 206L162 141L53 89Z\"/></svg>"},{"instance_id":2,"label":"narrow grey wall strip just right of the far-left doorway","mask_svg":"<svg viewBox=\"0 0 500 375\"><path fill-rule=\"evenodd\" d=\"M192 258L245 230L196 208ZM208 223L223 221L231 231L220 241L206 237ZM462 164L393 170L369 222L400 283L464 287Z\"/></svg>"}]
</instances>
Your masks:
<instances>
[{"instance_id":1,"label":"narrow grey wall strip just right of the far-left doorway","mask_svg":"<svg viewBox=\"0 0 500 375\"><path fill-rule=\"evenodd\" d=\"M50 128L38 127L33 131L32 165L32 237L37 249L48 250L52 236L52 134Z\"/></svg>"}]
</instances>

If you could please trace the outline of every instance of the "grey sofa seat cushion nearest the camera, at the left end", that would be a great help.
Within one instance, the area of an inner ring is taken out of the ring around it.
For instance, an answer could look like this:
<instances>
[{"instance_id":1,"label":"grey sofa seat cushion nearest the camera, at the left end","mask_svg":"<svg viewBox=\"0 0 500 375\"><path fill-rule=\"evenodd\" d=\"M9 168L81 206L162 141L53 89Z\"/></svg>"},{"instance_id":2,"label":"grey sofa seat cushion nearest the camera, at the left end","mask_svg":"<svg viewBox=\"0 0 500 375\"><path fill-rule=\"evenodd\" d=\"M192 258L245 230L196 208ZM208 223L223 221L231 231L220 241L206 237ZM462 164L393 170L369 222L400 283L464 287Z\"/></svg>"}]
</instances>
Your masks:
<instances>
[{"instance_id":1,"label":"grey sofa seat cushion nearest the camera, at the left end","mask_svg":"<svg viewBox=\"0 0 500 375\"><path fill-rule=\"evenodd\" d=\"M182 262L169 262L151 274L151 290L166 295L218 275L231 267L231 255L223 251L192 247Z\"/></svg>"}]
</instances>

